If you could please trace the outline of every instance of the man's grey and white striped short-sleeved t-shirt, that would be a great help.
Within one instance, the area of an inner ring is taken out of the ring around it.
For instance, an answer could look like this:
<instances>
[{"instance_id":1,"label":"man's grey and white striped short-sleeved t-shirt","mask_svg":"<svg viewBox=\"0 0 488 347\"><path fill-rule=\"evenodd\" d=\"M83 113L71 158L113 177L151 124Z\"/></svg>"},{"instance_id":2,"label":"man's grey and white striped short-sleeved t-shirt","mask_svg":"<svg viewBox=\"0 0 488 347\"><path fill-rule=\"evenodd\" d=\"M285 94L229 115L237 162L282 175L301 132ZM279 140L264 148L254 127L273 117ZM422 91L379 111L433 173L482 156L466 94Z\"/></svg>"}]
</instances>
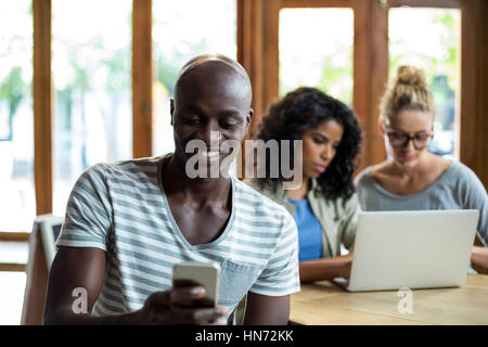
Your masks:
<instances>
[{"instance_id":1,"label":"man's grey and white striped short-sleeved t-shirt","mask_svg":"<svg viewBox=\"0 0 488 347\"><path fill-rule=\"evenodd\" d=\"M179 261L220 264L219 305L232 312L244 295L299 291L294 219L280 205L232 178L227 228L208 243L191 245L169 209L162 157L98 164L76 182L56 246L106 252L103 288L94 316L140 309L147 296L171 287Z\"/></svg>"}]
</instances>

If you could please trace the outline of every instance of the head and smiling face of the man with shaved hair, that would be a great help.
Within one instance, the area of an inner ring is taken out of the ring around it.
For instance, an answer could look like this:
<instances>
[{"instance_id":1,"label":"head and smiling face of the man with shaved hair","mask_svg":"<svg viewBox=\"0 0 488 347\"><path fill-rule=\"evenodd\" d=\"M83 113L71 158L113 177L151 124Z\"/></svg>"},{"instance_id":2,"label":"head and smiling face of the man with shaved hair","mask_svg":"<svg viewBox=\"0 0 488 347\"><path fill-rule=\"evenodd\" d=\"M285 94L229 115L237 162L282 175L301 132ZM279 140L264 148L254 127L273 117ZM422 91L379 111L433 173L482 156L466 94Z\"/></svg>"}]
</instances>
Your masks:
<instances>
[{"instance_id":1,"label":"head and smiling face of the man with shaved hair","mask_svg":"<svg viewBox=\"0 0 488 347\"><path fill-rule=\"evenodd\" d=\"M251 82L244 68L224 56L214 59L190 61L171 100L175 159L184 165L190 178L224 177L253 115ZM211 89L210 80L215 81ZM208 117L213 112L216 117Z\"/></svg>"}]
</instances>

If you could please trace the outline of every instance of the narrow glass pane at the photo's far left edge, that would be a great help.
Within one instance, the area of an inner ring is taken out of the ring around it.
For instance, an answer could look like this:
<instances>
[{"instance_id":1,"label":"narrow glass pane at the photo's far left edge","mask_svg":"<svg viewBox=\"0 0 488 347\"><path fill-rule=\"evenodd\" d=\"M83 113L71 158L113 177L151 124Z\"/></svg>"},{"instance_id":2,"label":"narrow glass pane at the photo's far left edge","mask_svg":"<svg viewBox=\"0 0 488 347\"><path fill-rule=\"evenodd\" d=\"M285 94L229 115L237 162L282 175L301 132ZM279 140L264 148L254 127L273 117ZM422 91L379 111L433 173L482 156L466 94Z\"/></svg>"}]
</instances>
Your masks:
<instances>
[{"instance_id":1,"label":"narrow glass pane at the photo's far left edge","mask_svg":"<svg viewBox=\"0 0 488 347\"><path fill-rule=\"evenodd\" d=\"M30 231L34 189L31 1L0 2L0 231Z\"/></svg>"}]
</instances>

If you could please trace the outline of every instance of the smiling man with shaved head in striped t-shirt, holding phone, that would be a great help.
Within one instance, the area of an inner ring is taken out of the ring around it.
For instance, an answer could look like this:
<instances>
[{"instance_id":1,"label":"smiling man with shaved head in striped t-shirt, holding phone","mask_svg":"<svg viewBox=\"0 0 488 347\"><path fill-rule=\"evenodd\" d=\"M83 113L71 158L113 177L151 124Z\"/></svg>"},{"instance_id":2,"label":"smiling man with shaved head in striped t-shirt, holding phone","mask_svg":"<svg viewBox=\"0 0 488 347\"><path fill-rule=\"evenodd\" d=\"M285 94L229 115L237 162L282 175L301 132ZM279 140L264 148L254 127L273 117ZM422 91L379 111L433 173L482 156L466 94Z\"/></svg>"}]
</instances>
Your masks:
<instances>
[{"instance_id":1,"label":"smiling man with shaved head in striped t-shirt, holding phone","mask_svg":"<svg viewBox=\"0 0 488 347\"><path fill-rule=\"evenodd\" d=\"M171 100L175 153L81 175L56 242L44 323L221 323L246 295L245 324L287 323L290 294L299 291L296 224L228 175L251 101L239 63L196 56ZM220 265L216 306L200 283L174 285L180 261Z\"/></svg>"}]
</instances>

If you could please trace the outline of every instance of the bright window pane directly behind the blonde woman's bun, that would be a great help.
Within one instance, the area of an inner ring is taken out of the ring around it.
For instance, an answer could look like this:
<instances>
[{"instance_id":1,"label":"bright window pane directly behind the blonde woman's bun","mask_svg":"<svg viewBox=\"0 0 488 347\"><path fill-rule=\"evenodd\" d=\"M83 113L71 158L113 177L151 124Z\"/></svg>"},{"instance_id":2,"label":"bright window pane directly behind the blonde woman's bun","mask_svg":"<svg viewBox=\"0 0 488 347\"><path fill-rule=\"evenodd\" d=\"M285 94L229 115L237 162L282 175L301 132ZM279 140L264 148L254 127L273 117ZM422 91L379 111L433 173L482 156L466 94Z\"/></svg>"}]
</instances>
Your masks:
<instances>
[{"instance_id":1,"label":"bright window pane directly behind the blonde woman's bun","mask_svg":"<svg viewBox=\"0 0 488 347\"><path fill-rule=\"evenodd\" d=\"M429 151L459 158L461 11L399 8L389 10L388 21L389 75L400 65L424 69L436 103Z\"/></svg>"}]
</instances>

